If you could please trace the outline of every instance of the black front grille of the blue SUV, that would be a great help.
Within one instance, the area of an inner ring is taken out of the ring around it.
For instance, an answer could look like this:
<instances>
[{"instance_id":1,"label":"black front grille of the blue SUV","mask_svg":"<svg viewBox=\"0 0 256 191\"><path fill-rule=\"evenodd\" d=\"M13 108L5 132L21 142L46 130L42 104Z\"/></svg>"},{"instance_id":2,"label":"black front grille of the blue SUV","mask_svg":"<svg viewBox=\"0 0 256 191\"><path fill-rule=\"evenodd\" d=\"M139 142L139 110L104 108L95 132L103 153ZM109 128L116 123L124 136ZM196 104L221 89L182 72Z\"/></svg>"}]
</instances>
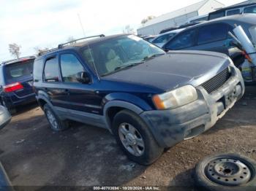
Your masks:
<instances>
[{"instance_id":1,"label":"black front grille of the blue SUV","mask_svg":"<svg viewBox=\"0 0 256 191\"><path fill-rule=\"evenodd\" d=\"M201 86L206 89L208 93L212 93L214 90L217 90L219 87L227 82L231 73L229 69L225 69L224 71L217 74L215 77L209 79L208 81L204 82Z\"/></svg>"}]
</instances>

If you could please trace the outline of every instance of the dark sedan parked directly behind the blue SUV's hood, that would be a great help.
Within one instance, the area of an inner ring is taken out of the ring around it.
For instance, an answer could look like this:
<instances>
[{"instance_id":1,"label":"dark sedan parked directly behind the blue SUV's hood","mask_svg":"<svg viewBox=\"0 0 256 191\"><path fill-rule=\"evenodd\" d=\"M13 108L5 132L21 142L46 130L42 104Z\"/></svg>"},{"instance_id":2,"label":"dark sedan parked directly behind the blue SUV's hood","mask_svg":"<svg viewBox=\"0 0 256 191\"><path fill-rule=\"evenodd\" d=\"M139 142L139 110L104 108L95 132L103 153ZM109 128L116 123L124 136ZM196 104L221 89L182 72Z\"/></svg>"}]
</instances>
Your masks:
<instances>
[{"instance_id":1,"label":"dark sedan parked directly behind the blue SUV's hood","mask_svg":"<svg viewBox=\"0 0 256 191\"><path fill-rule=\"evenodd\" d=\"M252 38L249 28L256 26L255 20L255 14L245 14L222 17L201 23L177 34L163 48L165 50L207 50L222 52L229 55L237 65L244 55L236 47L230 46L233 38L228 35L228 32L233 32L233 28L237 24L244 28L249 38Z\"/></svg>"}]
</instances>

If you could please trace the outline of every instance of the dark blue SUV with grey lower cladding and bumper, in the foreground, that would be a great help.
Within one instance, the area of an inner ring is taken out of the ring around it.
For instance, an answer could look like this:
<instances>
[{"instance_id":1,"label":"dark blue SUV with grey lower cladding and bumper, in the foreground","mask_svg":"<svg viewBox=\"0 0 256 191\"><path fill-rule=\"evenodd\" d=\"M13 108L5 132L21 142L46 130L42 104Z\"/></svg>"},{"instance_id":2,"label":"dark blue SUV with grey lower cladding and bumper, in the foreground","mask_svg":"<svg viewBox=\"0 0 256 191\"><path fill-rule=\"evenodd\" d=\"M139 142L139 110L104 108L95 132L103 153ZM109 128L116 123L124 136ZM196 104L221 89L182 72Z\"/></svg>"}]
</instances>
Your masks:
<instances>
[{"instance_id":1,"label":"dark blue SUV with grey lower cladding and bumper, in the foreground","mask_svg":"<svg viewBox=\"0 0 256 191\"><path fill-rule=\"evenodd\" d=\"M165 52L121 34L40 55L34 90L53 130L69 120L107 128L129 159L149 165L211 128L244 94L244 82L227 55Z\"/></svg>"}]
</instances>

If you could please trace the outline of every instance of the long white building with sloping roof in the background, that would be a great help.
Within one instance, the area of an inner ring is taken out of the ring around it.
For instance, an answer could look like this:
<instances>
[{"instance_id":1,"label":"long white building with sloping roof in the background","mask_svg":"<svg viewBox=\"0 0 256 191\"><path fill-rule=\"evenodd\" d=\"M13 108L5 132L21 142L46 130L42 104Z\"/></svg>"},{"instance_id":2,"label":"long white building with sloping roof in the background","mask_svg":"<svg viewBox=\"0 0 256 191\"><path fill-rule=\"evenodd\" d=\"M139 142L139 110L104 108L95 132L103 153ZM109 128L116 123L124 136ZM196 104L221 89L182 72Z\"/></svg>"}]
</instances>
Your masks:
<instances>
[{"instance_id":1,"label":"long white building with sloping roof in the background","mask_svg":"<svg viewBox=\"0 0 256 191\"><path fill-rule=\"evenodd\" d=\"M137 29L137 32L138 35L159 34L165 28L181 26L192 17L206 15L208 12L214 12L222 7L225 7L225 4L216 0L200 1L188 7L148 20L141 28Z\"/></svg>"}]
</instances>

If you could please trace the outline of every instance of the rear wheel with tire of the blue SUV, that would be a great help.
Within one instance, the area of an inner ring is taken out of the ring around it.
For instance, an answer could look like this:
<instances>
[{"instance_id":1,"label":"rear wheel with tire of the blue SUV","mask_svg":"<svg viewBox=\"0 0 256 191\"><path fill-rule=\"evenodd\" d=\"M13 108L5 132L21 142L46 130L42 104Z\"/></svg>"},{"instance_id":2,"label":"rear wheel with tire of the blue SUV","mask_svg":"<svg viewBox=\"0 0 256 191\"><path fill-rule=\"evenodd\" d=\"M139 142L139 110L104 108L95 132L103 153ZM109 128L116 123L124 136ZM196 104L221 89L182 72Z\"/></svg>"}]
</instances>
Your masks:
<instances>
[{"instance_id":1,"label":"rear wheel with tire of the blue SUV","mask_svg":"<svg viewBox=\"0 0 256 191\"><path fill-rule=\"evenodd\" d=\"M55 131L62 131L69 128L67 120L60 120L59 117L53 112L48 104L43 107L45 116L50 124L50 128Z\"/></svg>"}]
</instances>

